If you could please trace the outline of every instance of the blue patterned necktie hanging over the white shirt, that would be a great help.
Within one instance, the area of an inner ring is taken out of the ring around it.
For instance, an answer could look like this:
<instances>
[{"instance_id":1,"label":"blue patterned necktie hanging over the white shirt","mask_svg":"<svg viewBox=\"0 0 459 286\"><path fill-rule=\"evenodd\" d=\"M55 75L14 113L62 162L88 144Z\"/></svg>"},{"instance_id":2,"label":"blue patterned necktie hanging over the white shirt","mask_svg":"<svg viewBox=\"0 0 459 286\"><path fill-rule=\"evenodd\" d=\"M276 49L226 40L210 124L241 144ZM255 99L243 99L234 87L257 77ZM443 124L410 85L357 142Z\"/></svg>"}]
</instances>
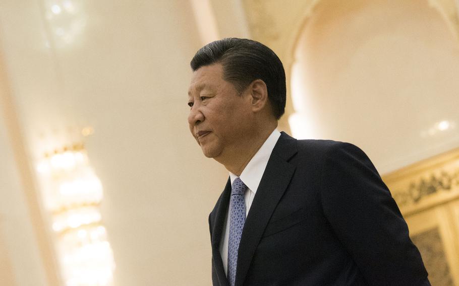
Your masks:
<instances>
[{"instance_id":1,"label":"blue patterned necktie hanging over the white shirt","mask_svg":"<svg viewBox=\"0 0 459 286\"><path fill-rule=\"evenodd\" d=\"M238 177L233 182L231 189L231 213L229 214L229 240L228 240L228 281L234 286L236 278L236 265L238 263L238 249L241 241L242 228L246 221L246 203L244 192L247 186Z\"/></svg>"}]
</instances>

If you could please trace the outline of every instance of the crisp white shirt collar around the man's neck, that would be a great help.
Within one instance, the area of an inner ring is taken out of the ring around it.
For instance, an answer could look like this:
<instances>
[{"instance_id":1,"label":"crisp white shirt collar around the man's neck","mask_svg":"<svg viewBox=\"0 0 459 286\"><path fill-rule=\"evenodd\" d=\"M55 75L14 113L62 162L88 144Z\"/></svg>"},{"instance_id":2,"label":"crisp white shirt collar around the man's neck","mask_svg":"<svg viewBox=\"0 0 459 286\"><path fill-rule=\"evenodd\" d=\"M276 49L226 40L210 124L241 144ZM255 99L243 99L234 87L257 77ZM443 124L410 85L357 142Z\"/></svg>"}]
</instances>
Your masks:
<instances>
[{"instance_id":1,"label":"crisp white shirt collar around the man's neck","mask_svg":"<svg viewBox=\"0 0 459 286\"><path fill-rule=\"evenodd\" d=\"M272 150L279 137L280 132L274 129L241 173L241 180L254 194L257 192L261 177L266 169L266 165L268 165L269 157L271 157ZM229 172L229 179L232 185L237 177L237 175Z\"/></svg>"}]
</instances>

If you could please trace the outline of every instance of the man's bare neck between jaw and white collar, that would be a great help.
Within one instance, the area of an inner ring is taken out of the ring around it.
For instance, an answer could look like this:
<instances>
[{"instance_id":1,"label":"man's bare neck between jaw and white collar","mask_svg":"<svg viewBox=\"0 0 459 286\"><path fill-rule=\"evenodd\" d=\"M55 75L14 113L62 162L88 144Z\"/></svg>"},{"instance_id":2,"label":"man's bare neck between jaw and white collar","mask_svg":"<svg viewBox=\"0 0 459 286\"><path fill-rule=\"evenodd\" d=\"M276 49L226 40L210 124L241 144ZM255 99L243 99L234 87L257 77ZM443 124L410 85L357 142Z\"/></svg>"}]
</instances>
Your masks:
<instances>
[{"instance_id":1,"label":"man's bare neck between jaw and white collar","mask_svg":"<svg viewBox=\"0 0 459 286\"><path fill-rule=\"evenodd\" d=\"M244 142L238 145L238 148L234 149L232 152L227 152L225 156L214 159L225 166L226 170L229 172L241 176L247 164L249 164L253 156L255 156L266 139L268 139L269 135L271 135L272 131L277 127L277 122L271 127L272 128L265 128L263 131L257 132L249 139L245 139Z\"/></svg>"}]
</instances>

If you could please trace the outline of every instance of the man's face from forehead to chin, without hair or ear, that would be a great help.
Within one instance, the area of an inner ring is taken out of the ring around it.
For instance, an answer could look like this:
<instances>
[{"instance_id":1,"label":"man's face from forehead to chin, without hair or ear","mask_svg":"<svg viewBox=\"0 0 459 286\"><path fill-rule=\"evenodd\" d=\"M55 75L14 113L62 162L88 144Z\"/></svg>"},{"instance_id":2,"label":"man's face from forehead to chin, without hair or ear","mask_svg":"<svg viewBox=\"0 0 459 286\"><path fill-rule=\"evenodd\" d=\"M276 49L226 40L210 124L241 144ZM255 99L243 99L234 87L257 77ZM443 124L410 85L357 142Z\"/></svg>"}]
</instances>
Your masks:
<instances>
[{"instance_id":1,"label":"man's face from forehead to chin, without hair or ear","mask_svg":"<svg viewBox=\"0 0 459 286\"><path fill-rule=\"evenodd\" d=\"M250 127L250 98L223 80L221 64L198 68L188 92L191 134L208 158L235 154Z\"/></svg>"}]
</instances>

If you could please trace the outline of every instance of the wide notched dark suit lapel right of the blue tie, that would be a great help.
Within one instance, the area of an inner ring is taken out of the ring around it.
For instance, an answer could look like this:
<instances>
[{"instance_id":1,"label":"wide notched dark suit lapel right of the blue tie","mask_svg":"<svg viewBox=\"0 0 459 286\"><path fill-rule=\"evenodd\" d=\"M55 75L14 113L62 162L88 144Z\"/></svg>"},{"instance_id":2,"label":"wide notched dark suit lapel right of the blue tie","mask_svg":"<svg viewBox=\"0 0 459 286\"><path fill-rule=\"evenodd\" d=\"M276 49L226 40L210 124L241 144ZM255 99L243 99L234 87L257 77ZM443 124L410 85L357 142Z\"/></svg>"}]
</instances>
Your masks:
<instances>
[{"instance_id":1,"label":"wide notched dark suit lapel right of the blue tie","mask_svg":"<svg viewBox=\"0 0 459 286\"><path fill-rule=\"evenodd\" d=\"M292 179L295 166L288 163L288 160L296 153L296 139L282 132L266 165L244 224L238 250L238 268L235 283L238 286L243 285L252 257L266 225Z\"/></svg>"}]
</instances>

